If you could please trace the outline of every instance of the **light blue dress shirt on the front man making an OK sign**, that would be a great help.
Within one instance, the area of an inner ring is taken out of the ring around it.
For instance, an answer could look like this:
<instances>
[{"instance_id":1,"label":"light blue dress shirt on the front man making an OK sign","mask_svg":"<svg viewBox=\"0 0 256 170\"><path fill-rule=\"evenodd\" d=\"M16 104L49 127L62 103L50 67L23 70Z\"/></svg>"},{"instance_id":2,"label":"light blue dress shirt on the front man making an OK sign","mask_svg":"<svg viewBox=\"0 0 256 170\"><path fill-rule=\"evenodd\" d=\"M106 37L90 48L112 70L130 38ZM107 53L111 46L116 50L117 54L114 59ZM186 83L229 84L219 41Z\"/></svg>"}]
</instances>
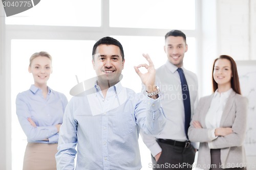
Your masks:
<instances>
[{"instance_id":1,"label":"light blue dress shirt on the front man making an OK sign","mask_svg":"<svg viewBox=\"0 0 256 170\"><path fill-rule=\"evenodd\" d=\"M57 169L131 169L141 168L140 128L159 134L165 116L159 100L136 94L117 83L103 98L95 92L76 96L67 105L59 132ZM77 151L76 151L77 146Z\"/></svg>"}]
</instances>

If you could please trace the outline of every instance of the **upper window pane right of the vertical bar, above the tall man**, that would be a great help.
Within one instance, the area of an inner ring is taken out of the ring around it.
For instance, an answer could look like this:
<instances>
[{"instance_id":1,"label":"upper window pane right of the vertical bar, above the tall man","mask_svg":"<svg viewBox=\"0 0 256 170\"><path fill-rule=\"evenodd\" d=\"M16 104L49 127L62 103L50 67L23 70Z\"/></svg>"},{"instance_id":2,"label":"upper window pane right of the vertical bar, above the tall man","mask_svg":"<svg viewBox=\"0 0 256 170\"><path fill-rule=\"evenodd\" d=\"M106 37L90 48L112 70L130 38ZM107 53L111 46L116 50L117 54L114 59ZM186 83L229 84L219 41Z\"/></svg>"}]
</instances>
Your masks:
<instances>
[{"instance_id":1,"label":"upper window pane right of the vertical bar, above the tall man","mask_svg":"<svg viewBox=\"0 0 256 170\"><path fill-rule=\"evenodd\" d=\"M110 0L110 27L195 30L195 0Z\"/></svg>"}]
</instances>

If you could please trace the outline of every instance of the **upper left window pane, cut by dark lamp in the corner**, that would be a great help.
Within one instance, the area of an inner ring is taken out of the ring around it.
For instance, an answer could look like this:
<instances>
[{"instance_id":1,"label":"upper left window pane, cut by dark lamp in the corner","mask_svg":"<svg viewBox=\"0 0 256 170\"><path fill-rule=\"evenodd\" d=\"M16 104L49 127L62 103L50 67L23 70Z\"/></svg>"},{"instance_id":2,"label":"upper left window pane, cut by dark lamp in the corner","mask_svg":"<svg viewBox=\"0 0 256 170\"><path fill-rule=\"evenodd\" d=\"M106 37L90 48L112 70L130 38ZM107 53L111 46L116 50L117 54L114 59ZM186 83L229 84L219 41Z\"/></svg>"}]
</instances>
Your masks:
<instances>
[{"instance_id":1,"label":"upper left window pane, cut by dark lamp in the corner","mask_svg":"<svg viewBox=\"0 0 256 170\"><path fill-rule=\"evenodd\" d=\"M33 8L6 17L7 25L101 26L100 0L42 0Z\"/></svg>"}]
</instances>

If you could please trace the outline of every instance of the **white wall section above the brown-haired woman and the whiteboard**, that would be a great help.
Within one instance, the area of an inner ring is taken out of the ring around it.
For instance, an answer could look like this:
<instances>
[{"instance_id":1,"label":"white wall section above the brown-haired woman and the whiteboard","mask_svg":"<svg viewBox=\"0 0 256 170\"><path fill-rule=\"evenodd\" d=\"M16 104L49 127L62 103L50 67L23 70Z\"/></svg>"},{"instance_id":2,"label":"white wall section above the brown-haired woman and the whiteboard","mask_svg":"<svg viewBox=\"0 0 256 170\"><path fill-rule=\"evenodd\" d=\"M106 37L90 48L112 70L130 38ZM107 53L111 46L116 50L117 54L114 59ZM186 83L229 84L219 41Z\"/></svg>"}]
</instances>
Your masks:
<instances>
[{"instance_id":1,"label":"white wall section above the brown-haired woman and the whiteboard","mask_svg":"<svg viewBox=\"0 0 256 170\"><path fill-rule=\"evenodd\" d=\"M250 56L250 7L251 0L219 0L218 31L219 52L236 60L249 60Z\"/></svg>"}]
</instances>

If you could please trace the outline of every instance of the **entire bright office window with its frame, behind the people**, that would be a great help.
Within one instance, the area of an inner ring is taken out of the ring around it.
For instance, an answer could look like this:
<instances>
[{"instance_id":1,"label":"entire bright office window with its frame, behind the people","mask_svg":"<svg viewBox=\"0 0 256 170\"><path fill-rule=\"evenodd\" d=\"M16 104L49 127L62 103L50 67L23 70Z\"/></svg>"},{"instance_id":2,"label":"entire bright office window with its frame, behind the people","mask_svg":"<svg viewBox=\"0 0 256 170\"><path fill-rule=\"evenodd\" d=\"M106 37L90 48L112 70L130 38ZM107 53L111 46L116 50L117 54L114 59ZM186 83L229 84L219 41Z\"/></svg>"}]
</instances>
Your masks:
<instances>
[{"instance_id":1,"label":"entire bright office window with its frame, behind the people","mask_svg":"<svg viewBox=\"0 0 256 170\"><path fill-rule=\"evenodd\" d=\"M180 29L187 35L188 52L184 57L184 67L197 73L199 34L196 30L196 2L197 0L44 0L28 11L6 17L6 42L10 42L6 44L6 56L11 56L12 169L22 169L27 144L15 113L15 99L18 92L28 90L33 84L28 65L34 52L47 51L52 55L53 74L48 85L65 93L70 100L72 96L69 90L77 84L76 75L80 82L96 76L91 63L93 44L101 37L112 36L124 47L122 84L140 92L141 81L133 66L146 63L142 53L151 56L155 68L166 62L163 50L166 30ZM55 28L48 26L60 27L56 27L56 32ZM41 34L42 31L44 34ZM150 151L141 138L139 144L142 170L151 169L148 168L148 163L151 162Z\"/></svg>"}]
</instances>

